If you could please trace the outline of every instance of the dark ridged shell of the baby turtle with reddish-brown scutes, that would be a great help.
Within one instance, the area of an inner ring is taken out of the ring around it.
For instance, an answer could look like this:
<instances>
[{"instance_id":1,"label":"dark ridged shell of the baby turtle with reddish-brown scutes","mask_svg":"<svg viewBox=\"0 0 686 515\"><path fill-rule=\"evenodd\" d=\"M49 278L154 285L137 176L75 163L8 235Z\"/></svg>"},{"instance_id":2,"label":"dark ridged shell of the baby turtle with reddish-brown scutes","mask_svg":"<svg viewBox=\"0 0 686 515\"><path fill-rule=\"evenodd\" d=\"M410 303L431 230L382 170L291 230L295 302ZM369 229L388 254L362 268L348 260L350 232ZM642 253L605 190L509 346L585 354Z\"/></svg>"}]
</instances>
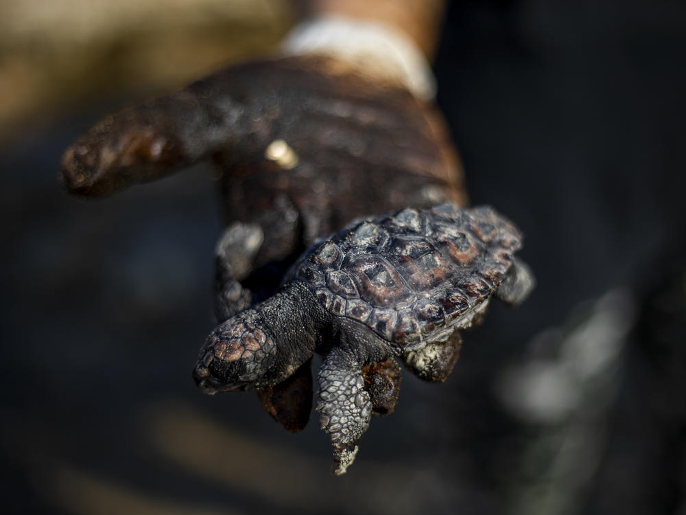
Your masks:
<instances>
[{"instance_id":1,"label":"dark ridged shell of the baby turtle with reddish-brown scutes","mask_svg":"<svg viewBox=\"0 0 686 515\"><path fill-rule=\"evenodd\" d=\"M492 207L403 209L316 242L289 279L307 282L331 314L410 350L468 326L521 241Z\"/></svg>"}]
</instances>

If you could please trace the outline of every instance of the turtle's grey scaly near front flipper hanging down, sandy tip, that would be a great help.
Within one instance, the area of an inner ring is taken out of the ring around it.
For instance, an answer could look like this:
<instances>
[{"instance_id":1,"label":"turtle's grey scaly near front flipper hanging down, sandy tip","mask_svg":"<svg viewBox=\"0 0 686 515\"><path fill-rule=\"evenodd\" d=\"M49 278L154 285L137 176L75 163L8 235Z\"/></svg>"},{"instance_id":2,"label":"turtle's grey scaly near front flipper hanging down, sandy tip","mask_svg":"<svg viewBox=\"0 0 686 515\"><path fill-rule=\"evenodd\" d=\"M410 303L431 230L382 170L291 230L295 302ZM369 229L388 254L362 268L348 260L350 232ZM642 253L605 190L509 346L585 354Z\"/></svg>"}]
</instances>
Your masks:
<instances>
[{"instance_id":1,"label":"turtle's grey scaly near front flipper hanging down, sandy tip","mask_svg":"<svg viewBox=\"0 0 686 515\"><path fill-rule=\"evenodd\" d=\"M372 403L364 389L361 365L340 347L333 347L319 370L320 426L333 446L333 473L344 474L355 460L357 442L369 426Z\"/></svg>"}]
</instances>

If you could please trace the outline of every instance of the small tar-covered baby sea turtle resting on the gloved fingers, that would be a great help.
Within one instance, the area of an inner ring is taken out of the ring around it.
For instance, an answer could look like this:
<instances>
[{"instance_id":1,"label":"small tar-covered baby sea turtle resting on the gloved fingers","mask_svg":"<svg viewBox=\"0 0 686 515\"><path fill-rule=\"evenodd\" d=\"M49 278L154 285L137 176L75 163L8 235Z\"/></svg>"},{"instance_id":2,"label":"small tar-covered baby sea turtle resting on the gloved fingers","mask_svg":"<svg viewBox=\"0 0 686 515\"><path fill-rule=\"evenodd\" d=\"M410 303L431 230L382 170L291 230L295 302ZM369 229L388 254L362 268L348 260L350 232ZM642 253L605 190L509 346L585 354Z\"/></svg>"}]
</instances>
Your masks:
<instances>
[{"instance_id":1,"label":"small tar-covered baby sea turtle resting on the gloved fingers","mask_svg":"<svg viewBox=\"0 0 686 515\"><path fill-rule=\"evenodd\" d=\"M333 472L344 474L372 396L393 387L366 389L363 368L399 356L419 377L445 380L460 331L481 321L490 298L517 305L532 290L530 269L514 256L522 238L489 206L445 203L355 220L312 244L275 295L209 334L196 384L205 393L268 387L321 354L320 427Z\"/></svg>"}]
</instances>

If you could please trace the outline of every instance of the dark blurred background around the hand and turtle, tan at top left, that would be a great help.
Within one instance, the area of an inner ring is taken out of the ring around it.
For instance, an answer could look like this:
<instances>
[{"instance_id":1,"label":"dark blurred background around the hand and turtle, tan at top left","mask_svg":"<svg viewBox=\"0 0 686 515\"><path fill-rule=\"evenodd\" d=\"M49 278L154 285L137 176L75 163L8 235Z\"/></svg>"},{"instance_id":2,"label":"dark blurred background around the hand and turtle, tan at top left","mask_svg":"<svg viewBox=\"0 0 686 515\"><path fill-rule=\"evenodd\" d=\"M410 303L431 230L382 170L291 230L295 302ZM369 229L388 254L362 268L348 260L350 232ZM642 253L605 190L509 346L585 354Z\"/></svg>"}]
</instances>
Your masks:
<instances>
[{"instance_id":1,"label":"dark blurred background around the hand and turtle, tan at top left","mask_svg":"<svg viewBox=\"0 0 686 515\"><path fill-rule=\"evenodd\" d=\"M3 512L686 514L686 5L449 5L438 102L539 286L445 385L405 374L341 478L317 424L193 385L213 170L99 201L57 181L95 119L292 23L278 0L0 4Z\"/></svg>"}]
</instances>

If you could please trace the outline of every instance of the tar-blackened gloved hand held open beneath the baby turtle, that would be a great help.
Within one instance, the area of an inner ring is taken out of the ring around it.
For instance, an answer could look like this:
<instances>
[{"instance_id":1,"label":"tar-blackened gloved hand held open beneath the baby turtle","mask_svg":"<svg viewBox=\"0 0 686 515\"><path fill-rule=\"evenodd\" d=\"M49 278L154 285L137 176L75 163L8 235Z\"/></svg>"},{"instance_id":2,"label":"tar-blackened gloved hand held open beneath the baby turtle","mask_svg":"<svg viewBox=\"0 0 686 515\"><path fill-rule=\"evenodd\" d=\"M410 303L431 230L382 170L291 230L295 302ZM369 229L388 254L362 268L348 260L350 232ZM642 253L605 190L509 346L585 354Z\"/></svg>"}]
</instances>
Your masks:
<instances>
[{"instance_id":1,"label":"tar-blackened gloved hand held open beneath the baby turtle","mask_svg":"<svg viewBox=\"0 0 686 515\"><path fill-rule=\"evenodd\" d=\"M239 63L106 115L62 157L62 182L106 196L210 159L226 229L215 257L217 323L273 295L298 256L350 220L466 205L459 159L436 109L397 84L324 56ZM399 385L380 363L366 385ZM309 419L309 363L258 389L289 431ZM393 409L392 396L374 414Z\"/></svg>"}]
</instances>

